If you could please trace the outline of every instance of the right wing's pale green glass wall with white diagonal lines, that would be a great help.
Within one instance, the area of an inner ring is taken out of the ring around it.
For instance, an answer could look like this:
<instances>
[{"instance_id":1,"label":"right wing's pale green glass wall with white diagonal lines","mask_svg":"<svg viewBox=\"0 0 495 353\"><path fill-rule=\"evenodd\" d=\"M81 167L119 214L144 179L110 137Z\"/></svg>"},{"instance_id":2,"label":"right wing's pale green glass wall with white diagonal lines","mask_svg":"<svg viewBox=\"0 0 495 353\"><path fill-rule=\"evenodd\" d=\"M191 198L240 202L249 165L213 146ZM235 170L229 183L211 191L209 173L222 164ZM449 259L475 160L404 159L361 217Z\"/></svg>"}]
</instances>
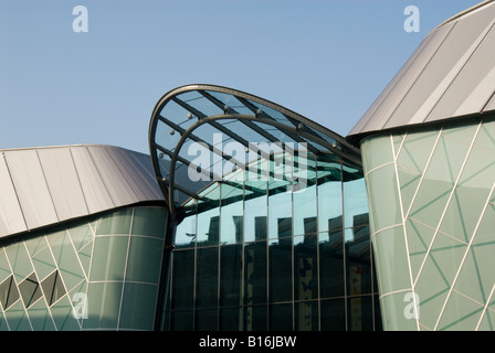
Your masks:
<instances>
[{"instance_id":1,"label":"right wing's pale green glass wall with white diagonal lines","mask_svg":"<svg viewBox=\"0 0 495 353\"><path fill-rule=\"evenodd\" d=\"M495 120L362 142L386 330L494 330Z\"/></svg>"}]
</instances>

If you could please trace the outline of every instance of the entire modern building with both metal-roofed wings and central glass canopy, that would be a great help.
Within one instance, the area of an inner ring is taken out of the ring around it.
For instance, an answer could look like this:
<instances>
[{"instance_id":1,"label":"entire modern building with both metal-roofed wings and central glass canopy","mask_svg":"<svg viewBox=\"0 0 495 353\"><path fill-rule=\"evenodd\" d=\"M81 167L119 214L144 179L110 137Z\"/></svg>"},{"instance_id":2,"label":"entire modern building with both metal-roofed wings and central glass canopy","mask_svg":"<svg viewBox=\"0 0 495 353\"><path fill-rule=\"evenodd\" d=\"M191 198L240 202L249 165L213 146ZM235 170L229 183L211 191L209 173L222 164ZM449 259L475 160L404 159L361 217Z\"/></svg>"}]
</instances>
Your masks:
<instances>
[{"instance_id":1,"label":"entire modern building with both metal-roofed wings and central glass canopy","mask_svg":"<svg viewBox=\"0 0 495 353\"><path fill-rule=\"evenodd\" d=\"M0 150L0 330L494 330L495 1L344 138L189 85L150 156Z\"/></svg>"}]
</instances>

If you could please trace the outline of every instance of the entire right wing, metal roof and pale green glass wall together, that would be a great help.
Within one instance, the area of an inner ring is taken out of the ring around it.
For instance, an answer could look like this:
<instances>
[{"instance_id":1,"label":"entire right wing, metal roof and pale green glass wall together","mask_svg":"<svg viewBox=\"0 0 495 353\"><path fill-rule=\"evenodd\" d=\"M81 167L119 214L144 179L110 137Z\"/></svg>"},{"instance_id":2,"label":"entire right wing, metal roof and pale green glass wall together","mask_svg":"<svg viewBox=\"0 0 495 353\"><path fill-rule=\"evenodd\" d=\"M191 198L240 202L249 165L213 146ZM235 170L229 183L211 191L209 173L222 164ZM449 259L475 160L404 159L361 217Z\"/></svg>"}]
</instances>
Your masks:
<instances>
[{"instance_id":1,"label":"entire right wing, metal roof and pale green glass wall together","mask_svg":"<svg viewBox=\"0 0 495 353\"><path fill-rule=\"evenodd\" d=\"M348 137L386 330L494 330L494 24L484 1L434 29Z\"/></svg>"}]
</instances>

